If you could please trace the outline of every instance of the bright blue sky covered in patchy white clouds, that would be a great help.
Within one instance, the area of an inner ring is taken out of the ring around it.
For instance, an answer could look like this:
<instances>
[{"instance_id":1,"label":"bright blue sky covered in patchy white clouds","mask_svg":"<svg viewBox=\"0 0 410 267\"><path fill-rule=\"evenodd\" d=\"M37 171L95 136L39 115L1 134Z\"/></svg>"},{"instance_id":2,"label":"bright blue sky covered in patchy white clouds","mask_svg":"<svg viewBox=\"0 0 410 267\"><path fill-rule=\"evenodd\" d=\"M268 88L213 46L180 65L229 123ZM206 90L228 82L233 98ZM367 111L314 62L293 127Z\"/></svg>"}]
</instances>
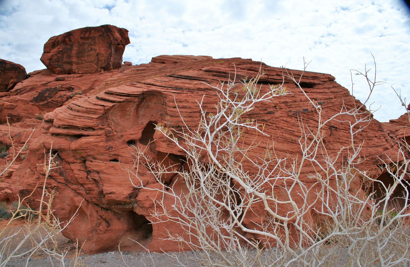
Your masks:
<instances>
[{"instance_id":1,"label":"bright blue sky covered in patchy white clouds","mask_svg":"<svg viewBox=\"0 0 410 267\"><path fill-rule=\"evenodd\" d=\"M48 38L103 24L130 31L123 58L133 64L185 54L301 69L305 57L309 71L349 89L350 69L374 70L372 53L385 82L370 100L374 117L405 112L391 87L410 102L410 12L400 0L0 0L0 58L43 69ZM353 81L365 99L364 81Z\"/></svg>"}]
</instances>

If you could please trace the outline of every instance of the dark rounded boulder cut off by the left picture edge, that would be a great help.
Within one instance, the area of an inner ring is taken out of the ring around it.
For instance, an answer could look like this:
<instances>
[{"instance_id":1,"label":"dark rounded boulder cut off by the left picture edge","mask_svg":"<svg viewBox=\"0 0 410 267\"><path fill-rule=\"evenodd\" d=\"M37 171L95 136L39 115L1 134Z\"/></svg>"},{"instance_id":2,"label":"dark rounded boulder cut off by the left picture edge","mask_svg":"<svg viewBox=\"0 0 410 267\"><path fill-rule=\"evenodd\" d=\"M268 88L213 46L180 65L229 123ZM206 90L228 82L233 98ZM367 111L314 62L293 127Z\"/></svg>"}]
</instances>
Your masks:
<instances>
[{"instance_id":1,"label":"dark rounded boulder cut off by the left picture edge","mask_svg":"<svg viewBox=\"0 0 410 267\"><path fill-rule=\"evenodd\" d=\"M20 65L0 58L0 92L7 92L26 79L27 72Z\"/></svg>"}]
</instances>

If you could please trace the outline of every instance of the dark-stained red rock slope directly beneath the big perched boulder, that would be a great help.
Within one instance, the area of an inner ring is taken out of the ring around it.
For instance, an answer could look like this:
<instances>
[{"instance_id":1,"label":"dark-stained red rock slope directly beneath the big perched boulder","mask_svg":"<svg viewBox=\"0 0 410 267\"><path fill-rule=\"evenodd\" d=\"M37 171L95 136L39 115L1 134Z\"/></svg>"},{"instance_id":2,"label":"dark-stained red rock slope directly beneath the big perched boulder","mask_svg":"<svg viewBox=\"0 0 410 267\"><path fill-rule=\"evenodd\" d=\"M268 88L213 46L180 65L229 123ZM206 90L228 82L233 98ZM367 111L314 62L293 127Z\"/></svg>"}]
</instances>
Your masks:
<instances>
[{"instance_id":1,"label":"dark-stained red rock slope directly beneath the big perched boulder","mask_svg":"<svg viewBox=\"0 0 410 267\"><path fill-rule=\"evenodd\" d=\"M47 69L30 72L30 77L18 83L13 90L0 93L0 123L6 123L6 117L14 123L42 116L68 100L82 97L127 68L123 65L120 70L69 75L54 74Z\"/></svg>"}]
</instances>

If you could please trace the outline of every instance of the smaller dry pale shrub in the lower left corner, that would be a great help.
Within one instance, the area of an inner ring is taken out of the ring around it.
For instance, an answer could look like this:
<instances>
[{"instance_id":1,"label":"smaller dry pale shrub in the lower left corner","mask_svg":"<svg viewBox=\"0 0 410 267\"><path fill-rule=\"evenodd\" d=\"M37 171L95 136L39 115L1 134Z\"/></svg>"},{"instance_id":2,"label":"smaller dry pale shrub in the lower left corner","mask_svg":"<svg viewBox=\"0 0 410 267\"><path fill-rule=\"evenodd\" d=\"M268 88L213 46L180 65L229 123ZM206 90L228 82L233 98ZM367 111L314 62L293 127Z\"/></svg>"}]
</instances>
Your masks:
<instances>
[{"instance_id":1,"label":"smaller dry pale shrub in the lower left corner","mask_svg":"<svg viewBox=\"0 0 410 267\"><path fill-rule=\"evenodd\" d=\"M14 155L13 161L17 156L18 154ZM41 199L38 200L39 209L33 210L30 209L30 207L23 206L23 203L32 196L36 188L34 188L30 195L23 199L19 197L18 205L13 211L11 219L0 231L0 267L9 266L8 263L10 260L22 257L25 258L25 266L30 266L30 259L33 256L42 254L49 258L50 264L53 267L55 266L53 260L57 261L59 266L62 267L82 266L83 260L78 256L81 250L78 248L78 242L75 244L76 253L73 260L68 264L65 258L68 251L62 251L58 247L57 235L67 227L75 218L75 215L66 222L60 222L59 219L53 215L51 205L57 192L55 190L47 190L46 183L50 172L58 168L54 161L57 155L53 155L50 150L49 155L45 153L44 156L44 163L42 165L44 166L45 178ZM8 164L7 167L11 166L11 164L12 162ZM5 171L7 171L7 168L5 168L3 172ZM22 227L17 227L17 229L9 227L16 220L22 219L25 220Z\"/></svg>"}]
</instances>

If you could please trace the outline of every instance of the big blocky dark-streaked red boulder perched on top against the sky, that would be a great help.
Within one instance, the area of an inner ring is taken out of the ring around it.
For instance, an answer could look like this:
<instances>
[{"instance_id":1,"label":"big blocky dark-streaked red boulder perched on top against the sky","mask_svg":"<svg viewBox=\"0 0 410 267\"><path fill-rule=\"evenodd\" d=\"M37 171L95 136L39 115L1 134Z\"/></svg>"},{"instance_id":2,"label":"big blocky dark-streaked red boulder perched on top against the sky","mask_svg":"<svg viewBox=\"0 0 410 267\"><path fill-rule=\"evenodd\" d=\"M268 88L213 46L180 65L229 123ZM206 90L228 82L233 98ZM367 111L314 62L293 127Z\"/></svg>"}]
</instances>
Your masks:
<instances>
[{"instance_id":1,"label":"big blocky dark-streaked red boulder perched on top against the sky","mask_svg":"<svg viewBox=\"0 0 410 267\"><path fill-rule=\"evenodd\" d=\"M56 74L86 74L121 67L128 30L112 25L85 27L51 37L40 60Z\"/></svg>"}]
</instances>

